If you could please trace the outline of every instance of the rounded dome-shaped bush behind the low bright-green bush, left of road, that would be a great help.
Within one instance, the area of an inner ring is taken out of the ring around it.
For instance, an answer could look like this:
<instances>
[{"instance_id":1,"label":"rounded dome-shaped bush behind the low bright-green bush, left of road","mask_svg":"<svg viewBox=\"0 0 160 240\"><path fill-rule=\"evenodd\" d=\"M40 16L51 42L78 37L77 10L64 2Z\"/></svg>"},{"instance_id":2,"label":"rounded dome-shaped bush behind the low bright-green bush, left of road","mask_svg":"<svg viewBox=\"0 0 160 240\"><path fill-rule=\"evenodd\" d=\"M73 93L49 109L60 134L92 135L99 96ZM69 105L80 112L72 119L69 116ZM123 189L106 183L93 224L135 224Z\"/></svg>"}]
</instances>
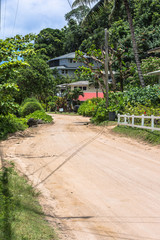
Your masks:
<instances>
[{"instance_id":1,"label":"rounded dome-shaped bush behind the low bright-green bush, left of road","mask_svg":"<svg viewBox=\"0 0 160 240\"><path fill-rule=\"evenodd\" d=\"M26 102L20 110L20 115L25 117L36 110L44 111L43 107L39 102Z\"/></svg>"}]
</instances>

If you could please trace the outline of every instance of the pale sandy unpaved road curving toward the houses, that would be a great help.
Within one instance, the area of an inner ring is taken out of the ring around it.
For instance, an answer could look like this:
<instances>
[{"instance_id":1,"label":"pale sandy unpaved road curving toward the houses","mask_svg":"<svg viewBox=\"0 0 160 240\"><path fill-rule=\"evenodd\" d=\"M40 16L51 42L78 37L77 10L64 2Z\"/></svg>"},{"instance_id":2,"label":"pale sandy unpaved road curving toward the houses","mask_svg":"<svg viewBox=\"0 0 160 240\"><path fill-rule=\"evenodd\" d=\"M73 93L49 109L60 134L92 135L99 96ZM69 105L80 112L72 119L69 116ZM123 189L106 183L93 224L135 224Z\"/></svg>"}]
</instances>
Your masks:
<instances>
[{"instance_id":1,"label":"pale sandy unpaved road curving toward the houses","mask_svg":"<svg viewBox=\"0 0 160 240\"><path fill-rule=\"evenodd\" d=\"M55 124L2 143L42 192L61 239L160 240L160 146L55 115Z\"/></svg>"}]
</instances>

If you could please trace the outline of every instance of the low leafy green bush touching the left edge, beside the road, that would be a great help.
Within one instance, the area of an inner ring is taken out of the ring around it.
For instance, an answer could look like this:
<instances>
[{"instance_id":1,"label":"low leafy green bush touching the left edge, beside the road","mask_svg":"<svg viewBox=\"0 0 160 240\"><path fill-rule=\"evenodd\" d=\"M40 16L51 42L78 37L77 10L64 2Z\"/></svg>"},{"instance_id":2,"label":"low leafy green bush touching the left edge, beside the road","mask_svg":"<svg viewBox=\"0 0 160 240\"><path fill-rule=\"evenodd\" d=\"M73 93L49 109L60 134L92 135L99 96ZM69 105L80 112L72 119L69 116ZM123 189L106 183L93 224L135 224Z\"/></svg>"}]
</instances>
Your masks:
<instances>
[{"instance_id":1,"label":"low leafy green bush touching the left edge, beside the road","mask_svg":"<svg viewBox=\"0 0 160 240\"><path fill-rule=\"evenodd\" d=\"M27 127L27 122L23 118L17 118L13 114L0 115L0 139L7 137L8 133L22 131Z\"/></svg>"}]
</instances>

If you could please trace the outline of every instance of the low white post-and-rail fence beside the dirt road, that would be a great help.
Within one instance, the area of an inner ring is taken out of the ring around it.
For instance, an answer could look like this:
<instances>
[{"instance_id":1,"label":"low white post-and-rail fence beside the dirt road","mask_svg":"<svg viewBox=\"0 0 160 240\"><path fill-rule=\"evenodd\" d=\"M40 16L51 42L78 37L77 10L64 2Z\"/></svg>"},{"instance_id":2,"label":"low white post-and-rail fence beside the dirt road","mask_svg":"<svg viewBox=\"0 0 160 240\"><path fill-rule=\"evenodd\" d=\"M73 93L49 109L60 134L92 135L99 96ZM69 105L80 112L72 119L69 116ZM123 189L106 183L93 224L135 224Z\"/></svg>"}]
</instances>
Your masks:
<instances>
[{"instance_id":1,"label":"low white post-and-rail fence beside the dirt road","mask_svg":"<svg viewBox=\"0 0 160 240\"><path fill-rule=\"evenodd\" d=\"M121 122L121 118L124 118L124 122ZM135 124L135 119L141 119L141 125ZM150 126L147 124L145 126L145 119L151 119ZM120 115L118 114L118 125L126 125L130 127L137 127L137 128L144 128L144 129L151 129L152 131L157 130L160 131L160 124L156 124L159 127L155 127L155 120L160 120L160 117L158 116L135 116L135 115Z\"/></svg>"}]
</instances>

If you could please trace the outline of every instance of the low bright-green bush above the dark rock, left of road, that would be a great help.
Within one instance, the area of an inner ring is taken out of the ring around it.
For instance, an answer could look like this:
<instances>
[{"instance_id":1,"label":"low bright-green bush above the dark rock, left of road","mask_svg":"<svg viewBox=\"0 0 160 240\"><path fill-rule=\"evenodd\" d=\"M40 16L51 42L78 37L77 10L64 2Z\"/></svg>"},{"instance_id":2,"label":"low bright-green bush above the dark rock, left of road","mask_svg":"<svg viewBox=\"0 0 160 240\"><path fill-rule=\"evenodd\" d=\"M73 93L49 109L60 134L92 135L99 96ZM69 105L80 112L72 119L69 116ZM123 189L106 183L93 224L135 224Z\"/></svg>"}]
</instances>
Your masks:
<instances>
[{"instance_id":1,"label":"low bright-green bush above the dark rock, left of road","mask_svg":"<svg viewBox=\"0 0 160 240\"><path fill-rule=\"evenodd\" d=\"M30 118L33 118L35 120L41 119L43 122L50 123L53 121L53 118L46 114L44 111L37 110L33 113L30 113L25 117L25 119L28 121Z\"/></svg>"}]
</instances>

